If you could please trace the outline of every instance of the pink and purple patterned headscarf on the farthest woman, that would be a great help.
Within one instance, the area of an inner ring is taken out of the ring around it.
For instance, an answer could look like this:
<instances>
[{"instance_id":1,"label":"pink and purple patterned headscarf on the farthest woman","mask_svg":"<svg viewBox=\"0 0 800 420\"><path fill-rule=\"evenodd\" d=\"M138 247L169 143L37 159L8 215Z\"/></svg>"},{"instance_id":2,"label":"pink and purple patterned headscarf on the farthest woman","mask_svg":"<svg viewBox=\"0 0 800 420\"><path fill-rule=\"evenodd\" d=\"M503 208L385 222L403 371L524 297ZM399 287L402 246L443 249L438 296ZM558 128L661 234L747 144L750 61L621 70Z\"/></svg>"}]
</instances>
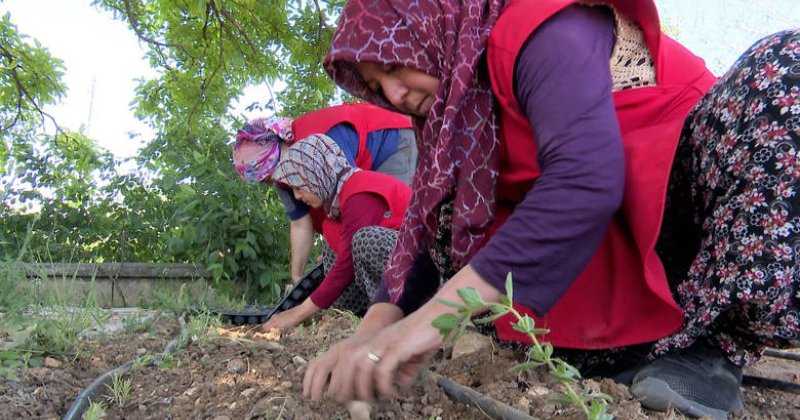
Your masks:
<instances>
[{"instance_id":1,"label":"pink and purple patterned headscarf on the farthest woman","mask_svg":"<svg viewBox=\"0 0 800 420\"><path fill-rule=\"evenodd\" d=\"M233 166L246 182L261 182L272 174L281 157L280 143L294 139L292 119L284 117L251 120L236 133Z\"/></svg>"}]
</instances>

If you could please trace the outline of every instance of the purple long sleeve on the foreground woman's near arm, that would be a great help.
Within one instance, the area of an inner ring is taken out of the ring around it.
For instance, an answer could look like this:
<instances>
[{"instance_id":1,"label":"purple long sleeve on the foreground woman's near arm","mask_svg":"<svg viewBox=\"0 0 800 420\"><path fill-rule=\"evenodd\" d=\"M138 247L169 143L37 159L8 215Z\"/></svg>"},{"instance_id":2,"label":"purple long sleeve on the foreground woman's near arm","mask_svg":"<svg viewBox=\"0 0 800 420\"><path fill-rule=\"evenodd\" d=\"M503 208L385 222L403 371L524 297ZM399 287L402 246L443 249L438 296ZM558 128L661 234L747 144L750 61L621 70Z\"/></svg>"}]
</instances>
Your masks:
<instances>
[{"instance_id":1,"label":"purple long sleeve on the foreground woman's near arm","mask_svg":"<svg viewBox=\"0 0 800 420\"><path fill-rule=\"evenodd\" d=\"M534 131L541 177L470 261L484 280L545 314L589 262L622 201L624 152L611 96L614 20L571 6L528 39L515 93Z\"/></svg>"}]
</instances>

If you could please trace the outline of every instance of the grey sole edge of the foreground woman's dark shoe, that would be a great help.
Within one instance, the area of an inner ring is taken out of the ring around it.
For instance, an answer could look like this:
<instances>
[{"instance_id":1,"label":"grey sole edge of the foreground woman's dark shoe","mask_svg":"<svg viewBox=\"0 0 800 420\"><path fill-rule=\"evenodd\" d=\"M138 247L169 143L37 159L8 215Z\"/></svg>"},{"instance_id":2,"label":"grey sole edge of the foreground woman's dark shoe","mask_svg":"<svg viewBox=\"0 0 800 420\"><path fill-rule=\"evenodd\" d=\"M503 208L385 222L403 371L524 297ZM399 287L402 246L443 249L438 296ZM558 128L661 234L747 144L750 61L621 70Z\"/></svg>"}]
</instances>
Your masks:
<instances>
[{"instance_id":1,"label":"grey sole edge of the foreground woman's dark shoe","mask_svg":"<svg viewBox=\"0 0 800 420\"><path fill-rule=\"evenodd\" d=\"M631 394L642 406L656 411L668 411L674 408L682 414L693 417L709 416L714 420L727 420L728 413L724 410L711 408L695 401L689 400L673 391L669 385L658 378L645 378L631 386ZM743 409L741 400L737 401L731 411Z\"/></svg>"}]
</instances>

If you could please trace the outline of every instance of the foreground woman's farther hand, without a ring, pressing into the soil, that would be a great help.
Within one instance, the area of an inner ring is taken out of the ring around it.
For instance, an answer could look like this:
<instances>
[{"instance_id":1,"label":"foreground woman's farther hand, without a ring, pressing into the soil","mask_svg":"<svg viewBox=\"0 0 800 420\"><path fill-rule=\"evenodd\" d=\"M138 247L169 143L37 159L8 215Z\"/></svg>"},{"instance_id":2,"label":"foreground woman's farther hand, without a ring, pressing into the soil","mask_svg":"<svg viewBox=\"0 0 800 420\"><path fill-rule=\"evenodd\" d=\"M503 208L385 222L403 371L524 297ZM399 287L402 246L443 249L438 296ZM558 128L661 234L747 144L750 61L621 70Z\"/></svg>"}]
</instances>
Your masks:
<instances>
[{"instance_id":1,"label":"foreground woman's farther hand, without a ring, pressing into the soil","mask_svg":"<svg viewBox=\"0 0 800 420\"><path fill-rule=\"evenodd\" d=\"M370 306L356 333L344 341L333 346L325 354L317 357L308 364L303 377L303 396L318 400L322 397L325 386L330 382L329 389L334 389L332 378L341 376L342 360L350 353L369 341L381 329L401 319L403 312L395 305L376 303ZM329 391L329 394L332 393Z\"/></svg>"}]
</instances>

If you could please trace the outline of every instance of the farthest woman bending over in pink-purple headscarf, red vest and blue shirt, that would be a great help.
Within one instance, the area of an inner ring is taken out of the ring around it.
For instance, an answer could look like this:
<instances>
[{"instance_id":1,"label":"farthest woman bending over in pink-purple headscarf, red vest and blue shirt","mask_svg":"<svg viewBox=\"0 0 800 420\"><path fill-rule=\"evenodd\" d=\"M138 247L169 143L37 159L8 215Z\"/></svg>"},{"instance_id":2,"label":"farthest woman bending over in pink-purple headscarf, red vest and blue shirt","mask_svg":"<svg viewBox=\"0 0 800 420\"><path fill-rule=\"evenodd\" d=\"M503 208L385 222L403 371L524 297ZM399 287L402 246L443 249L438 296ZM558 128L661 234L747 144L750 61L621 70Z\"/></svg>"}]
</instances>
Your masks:
<instances>
[{"instance_id":1,"label":"farthest woman bending over in pink-purple headscarf, red vest and blue shirt","mask_svg":"<svg viewBox=\"0 0 800 420\"><path fill-rule=\"evenodd\" d=\"M345 103L313 111L298 118L256 118L236 134L233 163L247 182L269 181L281 153L312 134L325 134L342 149L351 165L391 175L411 183L417 145L411 121L405 115L368 103ZM311 255L314 233L324 218L294 199L291 191L276 188L289 217L292 282L300 280ZM323 254L327 253L323 250Z\"/></svg>"}]
</instances>

